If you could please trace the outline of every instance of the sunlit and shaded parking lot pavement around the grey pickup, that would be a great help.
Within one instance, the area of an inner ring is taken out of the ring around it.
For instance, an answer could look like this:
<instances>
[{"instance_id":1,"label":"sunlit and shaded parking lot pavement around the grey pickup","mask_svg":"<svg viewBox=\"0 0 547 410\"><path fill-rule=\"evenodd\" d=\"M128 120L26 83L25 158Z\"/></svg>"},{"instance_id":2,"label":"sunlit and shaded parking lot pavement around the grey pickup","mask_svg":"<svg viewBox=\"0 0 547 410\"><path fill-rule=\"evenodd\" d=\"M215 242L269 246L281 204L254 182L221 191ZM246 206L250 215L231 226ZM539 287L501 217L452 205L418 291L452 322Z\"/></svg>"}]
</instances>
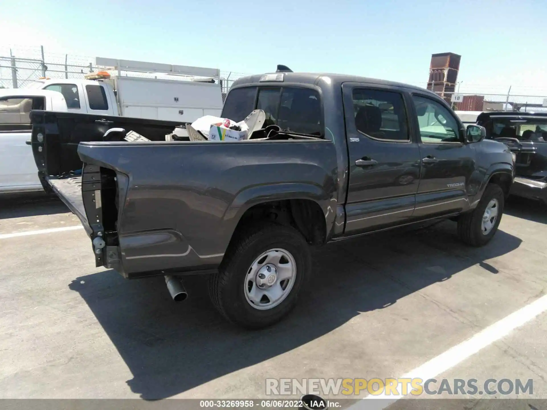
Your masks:
<instances>
[{"instance_id":1,"label":"sunlit and shaded parking lot pavement around the grey pickup","mask_svg":"<svg viewBox=\"0 0 547 410\"><path fill-rule=\"evenodd\" d=\"M513 200L484 248L451 221L329 245L295 311L249 332L214 310L205 277L174 303L163 278L96 268L55 198L0 198L0 398L261 399L266 378L397 378L545 295L546 224L543 204ZM545 317L439 379L532 378L547 399Z\"/></svg>"}]
</instances>

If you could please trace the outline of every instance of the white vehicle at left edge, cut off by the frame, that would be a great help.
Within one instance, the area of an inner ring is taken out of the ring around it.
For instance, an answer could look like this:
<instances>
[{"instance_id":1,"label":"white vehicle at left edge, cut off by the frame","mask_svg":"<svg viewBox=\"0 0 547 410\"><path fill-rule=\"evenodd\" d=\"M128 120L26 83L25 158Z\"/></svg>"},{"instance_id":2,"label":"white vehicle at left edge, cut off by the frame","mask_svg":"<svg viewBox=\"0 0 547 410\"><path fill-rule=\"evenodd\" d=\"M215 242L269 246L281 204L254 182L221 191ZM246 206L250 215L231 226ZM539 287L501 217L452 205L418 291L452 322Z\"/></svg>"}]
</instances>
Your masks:
<instances>
[{"instance_id":1,"label":"white vehicle at left edge, cut off by the frame","mask_svg":"<svg viewBox=\"0 0 547 410\"><path fill-rule=\"evenodd\" d=\"M0 194L40 191L32 149L31 110L67 111L62 93L49 90L0 90Z\"/></svg>"}]
</instances>

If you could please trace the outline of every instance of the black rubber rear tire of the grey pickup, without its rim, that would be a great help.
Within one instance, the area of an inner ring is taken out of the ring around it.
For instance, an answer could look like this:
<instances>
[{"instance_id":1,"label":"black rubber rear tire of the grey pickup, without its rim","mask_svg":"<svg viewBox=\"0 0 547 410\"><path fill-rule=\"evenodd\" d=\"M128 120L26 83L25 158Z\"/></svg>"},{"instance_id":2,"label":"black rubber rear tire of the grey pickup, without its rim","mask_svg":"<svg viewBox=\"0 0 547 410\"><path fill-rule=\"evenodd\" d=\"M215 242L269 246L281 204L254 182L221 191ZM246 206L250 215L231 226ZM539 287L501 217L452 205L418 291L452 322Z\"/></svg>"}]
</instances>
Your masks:
<instances>
[{"instance_id":1,"label":"black rubber rear tire of the grey pickup, without its rim","mask_svg":"<svg viewBox=\"0 0 547 410\"><path fill-rule=\"evenodd\" d=\"M296 265L294 284L280 304L258 310L245 296L245 277L254 260L274 248L287 250L293 256ZM209 296L218 311L232 323L247 329L261 329L281 320L294 308L310 270L310 247L299 231L286 225L260 223L234 238L219 272L209 279Z\"/></svg>"}]
</instances>

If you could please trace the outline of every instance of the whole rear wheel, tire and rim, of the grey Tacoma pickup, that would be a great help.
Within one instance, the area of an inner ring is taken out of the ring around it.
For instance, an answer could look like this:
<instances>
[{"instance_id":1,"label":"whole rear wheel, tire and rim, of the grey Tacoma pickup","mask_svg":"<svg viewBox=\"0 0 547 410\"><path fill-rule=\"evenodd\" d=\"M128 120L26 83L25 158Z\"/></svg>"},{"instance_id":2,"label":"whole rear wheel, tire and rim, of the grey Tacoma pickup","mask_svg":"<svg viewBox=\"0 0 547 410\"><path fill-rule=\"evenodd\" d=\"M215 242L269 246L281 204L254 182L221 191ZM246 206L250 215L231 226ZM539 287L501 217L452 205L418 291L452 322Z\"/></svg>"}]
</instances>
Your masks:
<instances>
[{"instance_id":1,"label":"whole rear wheel, tire and rim, of the grey Tacoma pickup","mask_svg":"<svg viewBox=\"0 0 547 410\"><path fill-rule=\"evenodd\" d=\"M209 284L211 300L226 319L260 329L293 309L311 266L299 231L264 223L238 236L229 253Z\"/></svg>"}]
</instances>

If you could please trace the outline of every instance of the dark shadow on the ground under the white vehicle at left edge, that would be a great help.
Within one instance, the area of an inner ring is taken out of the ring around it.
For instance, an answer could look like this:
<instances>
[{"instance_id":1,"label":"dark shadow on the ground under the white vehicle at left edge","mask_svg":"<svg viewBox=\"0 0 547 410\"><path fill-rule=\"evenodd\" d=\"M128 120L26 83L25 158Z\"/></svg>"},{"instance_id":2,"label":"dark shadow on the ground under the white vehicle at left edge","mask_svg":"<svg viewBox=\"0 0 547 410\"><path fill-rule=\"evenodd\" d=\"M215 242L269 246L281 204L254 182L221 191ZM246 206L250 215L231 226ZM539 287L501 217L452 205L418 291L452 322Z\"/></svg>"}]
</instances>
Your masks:
<instances>
[{"instance_id":1,"label":"dark shadow on the ground under the white vehicle at left edge","mask_svg":"<svg viewBox=\"0 0 547 410\"><path fill-rule=\"evenodd\" d=\"M45 192L0 195L0 219L53 215L70 212L56 196Z\"/></svg>"}]
</instances>

